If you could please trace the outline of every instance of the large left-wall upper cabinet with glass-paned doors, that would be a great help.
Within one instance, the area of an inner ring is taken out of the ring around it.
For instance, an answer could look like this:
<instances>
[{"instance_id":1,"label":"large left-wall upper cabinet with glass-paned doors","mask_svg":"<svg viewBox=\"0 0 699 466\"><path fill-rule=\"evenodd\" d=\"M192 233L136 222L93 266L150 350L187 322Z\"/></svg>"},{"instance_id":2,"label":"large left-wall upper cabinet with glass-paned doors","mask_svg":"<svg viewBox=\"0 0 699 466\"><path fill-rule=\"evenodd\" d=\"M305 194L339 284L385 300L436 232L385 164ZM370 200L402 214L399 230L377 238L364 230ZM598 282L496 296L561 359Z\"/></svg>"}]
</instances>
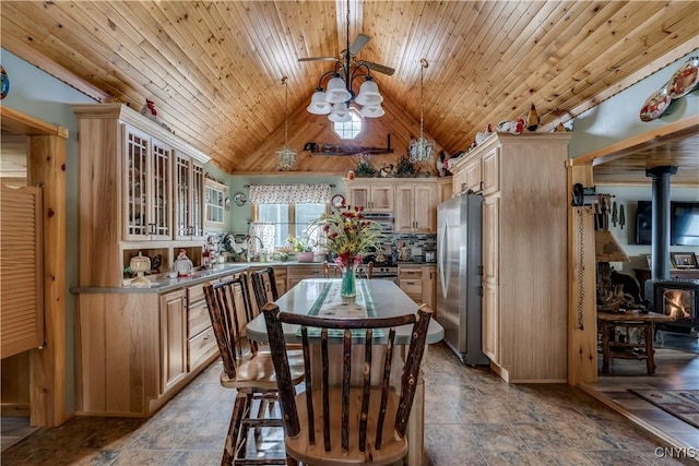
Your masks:
<instances>
[{"instance_id":1,"label":"large left-wall upper cabinet with glass-paned doors","mask_svg":"<svg viewBox=\"0 0 699 466\"><path fill-rule=\"evenodd\" d=\"M79 141L80 285L121 286L131 251L203 239L209 160L121 104L73 105ZM163 258L163 265L171 262ZM126 263L125 263L126 262Z\"/></svg>"}]
</instances>

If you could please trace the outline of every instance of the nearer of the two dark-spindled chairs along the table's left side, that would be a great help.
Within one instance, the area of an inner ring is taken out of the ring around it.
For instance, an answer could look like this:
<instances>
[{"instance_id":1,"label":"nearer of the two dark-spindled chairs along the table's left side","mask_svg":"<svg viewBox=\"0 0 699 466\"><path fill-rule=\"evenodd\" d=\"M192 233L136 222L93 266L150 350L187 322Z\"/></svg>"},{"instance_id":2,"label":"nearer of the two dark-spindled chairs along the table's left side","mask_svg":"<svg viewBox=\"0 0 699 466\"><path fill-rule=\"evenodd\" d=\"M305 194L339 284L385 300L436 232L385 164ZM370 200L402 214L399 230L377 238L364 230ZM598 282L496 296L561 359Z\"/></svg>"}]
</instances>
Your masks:
<instances>
[{"instance_id":1,"label":"nearer of the two dark-spindled chairs along the table's left side","mask_svg":"<svg viewBox=\"0 0 699 466\"><path fill-rule=\"evenodd\" d=\"M264 462L260 462L260 458L246 458L250 427L253 427L257 432L258 428L283 426L281 419L263 418L260 411L257 417L250 416L253 401L260 401L262 404L269 399L276 399L277 386L270 354L259 353L257 345L244 345L241 328L252 318L247 276L240 274L236 278L216 284L208 282L203 288L223 361L221 385L238 392L221 463L222 465L286 464L283 458L265 458ZM292 383L301 382L303 375L301 362L292 361L289 379Z\"/></svg>"}]
</instances>

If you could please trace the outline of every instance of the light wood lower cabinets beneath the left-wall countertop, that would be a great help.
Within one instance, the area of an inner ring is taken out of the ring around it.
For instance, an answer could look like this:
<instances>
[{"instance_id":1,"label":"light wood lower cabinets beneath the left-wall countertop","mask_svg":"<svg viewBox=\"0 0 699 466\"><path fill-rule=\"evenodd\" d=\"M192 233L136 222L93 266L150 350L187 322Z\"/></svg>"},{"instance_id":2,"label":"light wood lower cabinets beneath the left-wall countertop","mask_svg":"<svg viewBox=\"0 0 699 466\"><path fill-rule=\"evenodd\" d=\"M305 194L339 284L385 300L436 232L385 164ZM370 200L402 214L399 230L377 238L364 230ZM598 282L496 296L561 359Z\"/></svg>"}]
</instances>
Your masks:
<instances>
[{"instance_id":1,"label":"light wood lower cabinets beneath the left-wall countertop","mask_svg":"<svg viewBox=\"0 0 699 466\"><path fill-rule=\"evenodd\" d=\"M75 411L150 417L218 357L203 286L80 292Z\"/></svg>"}]
</instances>

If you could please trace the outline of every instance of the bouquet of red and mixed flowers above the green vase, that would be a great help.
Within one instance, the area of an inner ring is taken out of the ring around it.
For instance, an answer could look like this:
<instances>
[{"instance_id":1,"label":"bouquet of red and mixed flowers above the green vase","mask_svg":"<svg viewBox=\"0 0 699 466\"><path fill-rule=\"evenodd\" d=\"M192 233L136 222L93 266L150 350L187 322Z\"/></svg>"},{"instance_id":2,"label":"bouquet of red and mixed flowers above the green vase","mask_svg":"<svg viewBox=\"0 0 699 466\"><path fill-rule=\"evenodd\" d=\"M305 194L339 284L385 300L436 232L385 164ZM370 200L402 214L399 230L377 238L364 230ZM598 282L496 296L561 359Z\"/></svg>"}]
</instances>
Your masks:
<instances>
[{"instance_id":1,"label":"bouquet of red and mixed flowers above the green vase","mask_svg":"<svg viewBox=\"0 0 699 466\"><path fill-rule=\"evenodd\" d=\"M311 225L322 228L324 246L337 254L335 262L341 267L357 264L369 248L379 248L381 226L365 218L363 207L342 207L320 216Z\"/></svg>"}]
</instances>

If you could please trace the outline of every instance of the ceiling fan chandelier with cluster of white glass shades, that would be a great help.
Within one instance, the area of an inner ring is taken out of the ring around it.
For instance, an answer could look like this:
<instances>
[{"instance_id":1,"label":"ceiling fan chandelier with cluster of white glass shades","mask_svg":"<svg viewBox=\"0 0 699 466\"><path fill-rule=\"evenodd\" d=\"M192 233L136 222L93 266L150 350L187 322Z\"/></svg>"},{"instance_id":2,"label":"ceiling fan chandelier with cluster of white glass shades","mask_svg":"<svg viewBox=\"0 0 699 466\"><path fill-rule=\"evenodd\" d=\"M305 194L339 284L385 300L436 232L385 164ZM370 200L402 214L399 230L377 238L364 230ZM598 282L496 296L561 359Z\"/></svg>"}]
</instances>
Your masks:
<instances>
[{"instance_id":1,"label":"ceiling fan chandelier with cluster of white glass shades","mask_svg":"<svg viewBox=\"0 0 699 466\"><path fill-rule=\"evenodd\" d=\"M310 105L306 108L309 113L328 115L328 119L333 122L352 121L348 107L354 103L359 110L359 115L365 118L378 118L384 115L381 108L383 97L379 93L379 86L371 77L370 69L391 75L393 69L378 63L360 60L354 62L353 58L362 47L366 45L369 37L360 34L355 43L350 46L350 0L347 0L347 48L340 60L335 61L335 69L328 71L318 80L318 87L313 93ZM324 60L325 57L299 59L299 61ZM323 81L329 77L325 88ZM364 80L359 86L359 94L355 95L353 84L355 80Z\"/></svg>"}]
</instances>

